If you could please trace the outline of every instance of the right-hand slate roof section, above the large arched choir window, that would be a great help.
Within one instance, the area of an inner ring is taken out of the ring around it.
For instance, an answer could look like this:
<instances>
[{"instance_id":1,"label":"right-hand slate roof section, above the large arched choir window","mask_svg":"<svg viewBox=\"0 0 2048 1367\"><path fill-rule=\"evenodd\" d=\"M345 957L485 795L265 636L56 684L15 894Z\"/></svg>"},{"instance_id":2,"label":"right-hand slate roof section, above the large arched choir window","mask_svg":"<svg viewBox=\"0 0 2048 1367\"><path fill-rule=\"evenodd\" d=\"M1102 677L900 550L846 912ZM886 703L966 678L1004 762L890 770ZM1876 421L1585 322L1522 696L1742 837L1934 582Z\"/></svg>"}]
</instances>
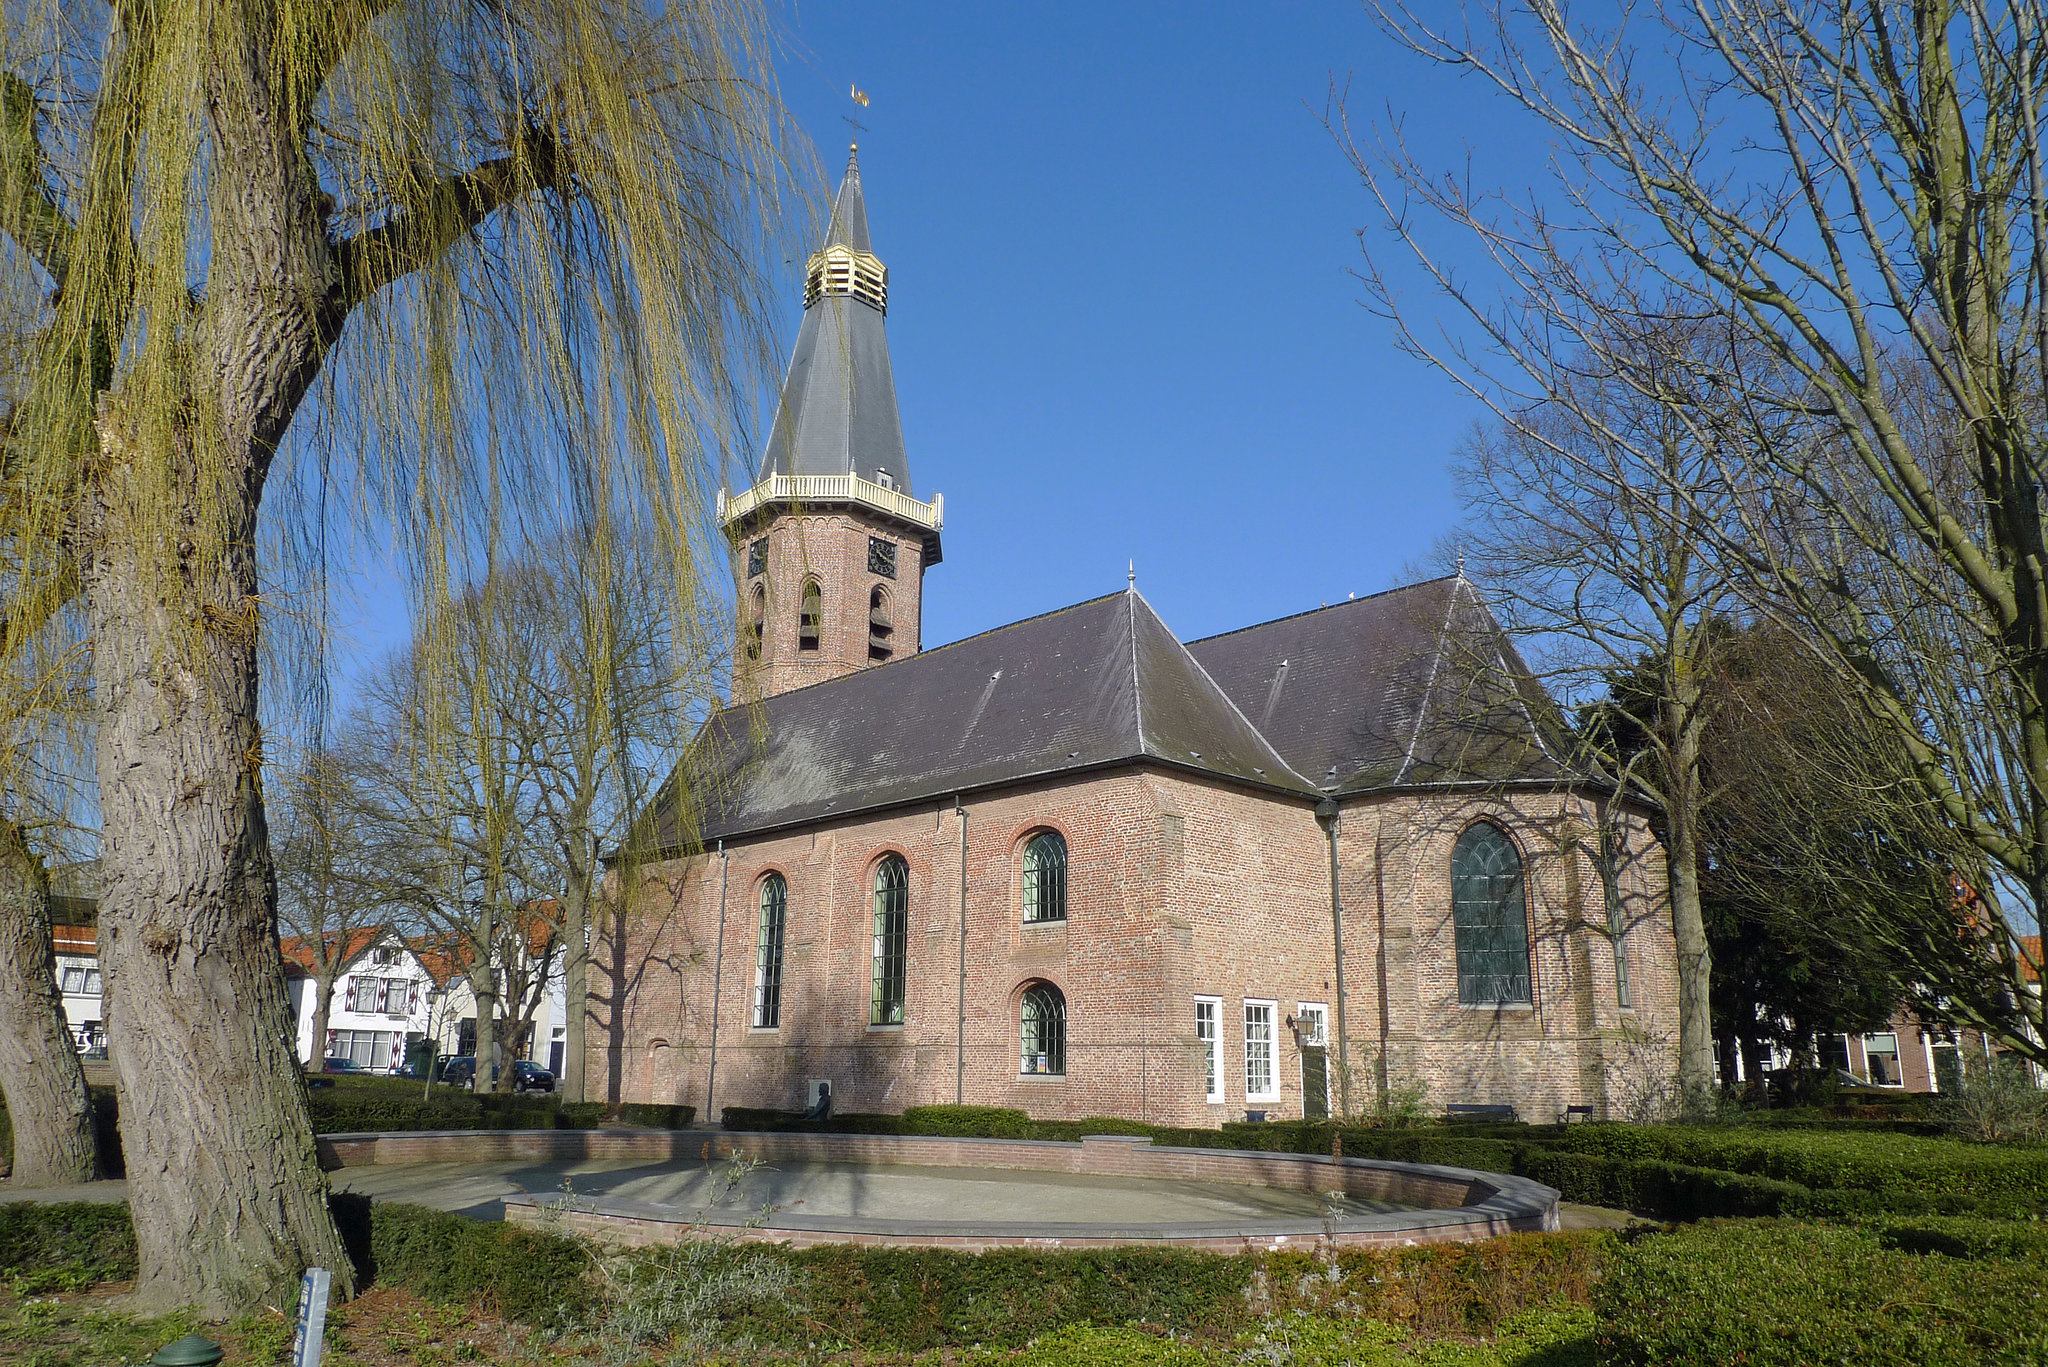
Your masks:
<instances>
[{"instance_id":1,"label":"right-hand slate roof section, above the large arched choir window","mask_svg":"<svg viewBox=\"0 0 2048 1367\"><path fill-rule=\"evenodd\" d=\"M1460 576L1188 650L1294 769L1333 793L1565 775L1556 705Z\"/></svg>"}]
</instances>

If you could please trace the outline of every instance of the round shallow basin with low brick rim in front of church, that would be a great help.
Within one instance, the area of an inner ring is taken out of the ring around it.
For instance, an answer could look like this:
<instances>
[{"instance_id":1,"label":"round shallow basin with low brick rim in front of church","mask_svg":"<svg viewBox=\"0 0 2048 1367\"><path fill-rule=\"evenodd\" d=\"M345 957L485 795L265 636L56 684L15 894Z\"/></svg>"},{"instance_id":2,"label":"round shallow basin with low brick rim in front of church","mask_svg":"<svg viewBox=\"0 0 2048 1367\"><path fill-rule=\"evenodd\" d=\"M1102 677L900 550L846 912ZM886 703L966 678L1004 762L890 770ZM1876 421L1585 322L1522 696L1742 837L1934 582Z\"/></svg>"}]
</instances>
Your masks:
<instances>
[{"instance_id":1,"label":"round shallow basin with low brick rim in front of church","mask_svg":"<svg viewBox=\"0 0 2048 1367\"><path fill-rule=\"evenodd\" d=\"M449 1131L324 1140L336 1189L655 1244L1409 1244L1554 1230L1526 1178L1317 1154L928 1135Z\"/></svg>"}]
</instances>

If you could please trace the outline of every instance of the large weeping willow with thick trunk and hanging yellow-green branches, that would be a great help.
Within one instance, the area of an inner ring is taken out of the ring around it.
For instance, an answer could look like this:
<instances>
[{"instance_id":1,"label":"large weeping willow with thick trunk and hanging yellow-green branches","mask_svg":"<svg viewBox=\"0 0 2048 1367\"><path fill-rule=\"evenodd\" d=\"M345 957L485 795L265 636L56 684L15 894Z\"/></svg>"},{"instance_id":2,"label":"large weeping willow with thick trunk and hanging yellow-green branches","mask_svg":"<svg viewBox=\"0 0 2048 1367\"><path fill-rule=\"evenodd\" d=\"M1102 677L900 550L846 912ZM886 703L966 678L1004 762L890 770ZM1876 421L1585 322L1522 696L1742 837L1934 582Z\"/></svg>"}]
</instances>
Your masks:
<instances>
[{"instance_id":1,"label":"large weeping willow with thick trunk and hanging yellow-green branches","mask_svg":"<svg viewBox=\"0 0 2048 1367\"><path fill-rule=\"evenodd\" d=\"M262 807L264 490L442 605L664 539L770 363L788 160L745 0L41 0L0 35L8 637L92 637L100 959L145 1308L346 1281ZM305 414L301 414L305 410ZM317 496L305 498L307 490ZM289 1301L285 1301L289 1303Z\"/></svg>"}]
</instances>

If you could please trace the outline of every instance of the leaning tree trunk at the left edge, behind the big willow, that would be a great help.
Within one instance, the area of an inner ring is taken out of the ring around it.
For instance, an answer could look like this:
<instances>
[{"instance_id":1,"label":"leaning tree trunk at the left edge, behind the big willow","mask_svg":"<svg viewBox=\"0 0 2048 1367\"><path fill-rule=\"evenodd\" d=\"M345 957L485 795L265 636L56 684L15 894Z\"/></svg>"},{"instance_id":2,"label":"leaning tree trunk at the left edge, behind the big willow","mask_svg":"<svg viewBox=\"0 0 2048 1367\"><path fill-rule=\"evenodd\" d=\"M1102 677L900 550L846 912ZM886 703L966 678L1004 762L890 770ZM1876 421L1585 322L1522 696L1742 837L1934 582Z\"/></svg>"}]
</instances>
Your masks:
<instances>
[{"instance_id":1,"label":"leaning tree trunk at the left edge, behind the big willow","mask_svg":"<svg viewBox=\"0 0 2048 1367\"><path fill-rule=\"evenodd\" d=\"M49 875L20 828L0 820L0 1090L14 1127L14 1187L100 1174L92 1094L63 1021L49 951Z\"/></svg>"}]
</instances>

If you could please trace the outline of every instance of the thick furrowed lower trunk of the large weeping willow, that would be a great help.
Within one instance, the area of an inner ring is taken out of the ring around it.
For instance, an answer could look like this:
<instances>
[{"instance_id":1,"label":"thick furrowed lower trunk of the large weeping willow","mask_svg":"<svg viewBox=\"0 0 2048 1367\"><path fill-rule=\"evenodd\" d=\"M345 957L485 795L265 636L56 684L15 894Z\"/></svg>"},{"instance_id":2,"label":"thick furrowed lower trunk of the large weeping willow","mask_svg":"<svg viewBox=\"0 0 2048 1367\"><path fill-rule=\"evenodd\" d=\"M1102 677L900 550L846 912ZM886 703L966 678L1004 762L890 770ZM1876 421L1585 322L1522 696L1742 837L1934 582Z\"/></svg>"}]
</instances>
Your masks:
<instances>
[{"instance_id":1,"label":"thick furrowed lower trunk of the large weeping willow","mask_svg":"<svg viewBox=\"0 0 2048 1367\"><path fill-rule=\"evenodd\" d=\"M354 1275L293 1058L256 775L260 475L248 459L203 471L172 453L180 512L166 523L125 459L131 443L102 434L84 576L135 1303L289 1306L307 1267L346 1293Z\"/></svg>"}]
</instances>

